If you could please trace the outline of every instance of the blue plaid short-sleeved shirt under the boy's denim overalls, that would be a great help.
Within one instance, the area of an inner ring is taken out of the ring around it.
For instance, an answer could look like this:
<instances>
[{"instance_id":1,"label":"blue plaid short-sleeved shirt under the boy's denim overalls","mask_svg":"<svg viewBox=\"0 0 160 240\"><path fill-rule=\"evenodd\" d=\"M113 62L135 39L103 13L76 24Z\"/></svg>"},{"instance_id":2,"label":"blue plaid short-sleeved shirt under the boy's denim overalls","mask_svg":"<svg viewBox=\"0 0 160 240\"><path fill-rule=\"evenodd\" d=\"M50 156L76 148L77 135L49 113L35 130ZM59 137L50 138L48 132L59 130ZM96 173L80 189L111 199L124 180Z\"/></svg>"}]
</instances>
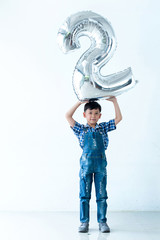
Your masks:
<instances>
[{"instance_id":1,"label":"blue plaid short-sleeved shirt under the boy's denim overalls","mask_svg":"<svg viewBox=\"0 0 160 240\"><path fill-rule=\"evenodd\" d=\"M102 133L104 147L106 150L108 147L108 143L109 143L108 132L116 129L116 125L115 125L114 119L110 120L109 122L102 122L100 124L96 124L95 128L90 127L88 124L83 125L78 122L75 122L75 125L72 129L74 131L74 134L77 136L77 138L79 140L79 144L82 149L84 146L85 132L99 132L100 131Z\"/></svg>"}]
</instances>

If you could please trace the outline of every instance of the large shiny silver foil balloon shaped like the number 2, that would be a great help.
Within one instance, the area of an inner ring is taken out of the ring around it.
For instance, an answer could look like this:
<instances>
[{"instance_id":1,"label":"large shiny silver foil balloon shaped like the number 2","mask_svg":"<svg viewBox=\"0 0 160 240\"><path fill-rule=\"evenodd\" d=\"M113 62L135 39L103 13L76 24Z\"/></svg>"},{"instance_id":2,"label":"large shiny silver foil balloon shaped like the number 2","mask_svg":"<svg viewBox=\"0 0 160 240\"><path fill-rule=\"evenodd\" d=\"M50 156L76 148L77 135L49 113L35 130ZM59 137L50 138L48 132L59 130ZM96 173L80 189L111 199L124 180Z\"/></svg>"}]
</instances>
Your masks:
<instances>
[{"instance_id":1,"label":"large shiny silver foil balloon shaped like the number 2","mask_svg":"<svg viewBox=\"0 0 160 240\"><path fill-rule=\"evenodd\" d=\"M67 18L58 31L58 43L64 53L80 48L79 38L89 37L91 45L78 60L73 72L73 89L80 101L117 96L135 86L131 68L102 76L101 68L113 56L117 43L110 22L91 11Z\"/></svg>"}]
</instances>

